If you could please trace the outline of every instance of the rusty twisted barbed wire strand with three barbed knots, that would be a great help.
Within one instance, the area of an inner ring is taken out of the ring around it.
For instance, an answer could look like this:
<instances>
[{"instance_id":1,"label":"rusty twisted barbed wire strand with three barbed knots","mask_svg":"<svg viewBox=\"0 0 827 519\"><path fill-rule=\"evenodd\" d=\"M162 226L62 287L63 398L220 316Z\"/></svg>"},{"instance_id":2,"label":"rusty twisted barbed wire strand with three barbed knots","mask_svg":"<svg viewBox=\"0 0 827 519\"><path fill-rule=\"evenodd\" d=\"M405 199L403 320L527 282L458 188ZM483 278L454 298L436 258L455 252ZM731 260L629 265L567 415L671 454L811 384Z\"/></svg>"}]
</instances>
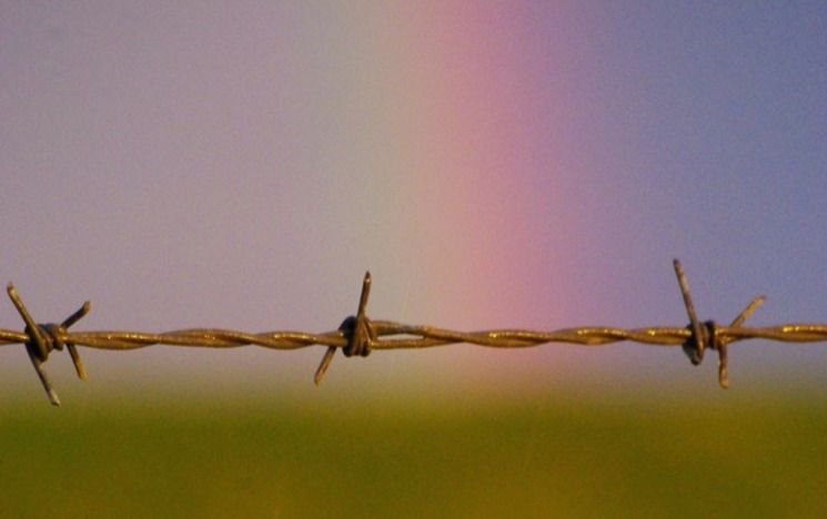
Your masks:
<instances>
[{"instance_id":1,"label":"rusty twisted barbed wire strand with three barbed knots","mask_svg":"<svg viewBox=\"0 0 827 519\"><path fill-rule=\"evenodd\" d=\"M306 332L265 332L251 334L231 329L191 328L159 334L141 332L69 332L69 327L89 313L91 304L80 309L61 324L36 324L12 284L7 292L26 323L24 330L0 329L0 346L23 344L29 358L40 377L52 405L59 406L43 364L53 350L65 346L74 363L78 376L85 380L87 372L77 347L127 350L153 345L191 346L209 348L234 348L255 345L270 349L297 349L309 346L326 346L327 349L316 369L314 380L322 381L337 349L346 357L367 356L376 349L412 349L450 344L474 344L494 348L524 348L547 343L569 343L584 346L601 346L624 340L653 346L682 346L694 365L700 364L707 349L718 352L718 381L728 387L727 346L746 339L768 339L784 343L815 343L827 340L825 324L787 324L770 327L744 327L744 322L764 303L763 296L749 305L728 325L700 322L689 293L689 286L680 262L674 262L675 274L684 298L689 325L685 327L656 326L648 328L613 328L587 326L562 328L553 332L528 329L492 329L483 332L455 332L433 326L416 326L391 320L372 320L366 315L371 289L371 274L366 273L356 315L350 316L334 332L312 334Z\"/></svg>"}]
</instances>

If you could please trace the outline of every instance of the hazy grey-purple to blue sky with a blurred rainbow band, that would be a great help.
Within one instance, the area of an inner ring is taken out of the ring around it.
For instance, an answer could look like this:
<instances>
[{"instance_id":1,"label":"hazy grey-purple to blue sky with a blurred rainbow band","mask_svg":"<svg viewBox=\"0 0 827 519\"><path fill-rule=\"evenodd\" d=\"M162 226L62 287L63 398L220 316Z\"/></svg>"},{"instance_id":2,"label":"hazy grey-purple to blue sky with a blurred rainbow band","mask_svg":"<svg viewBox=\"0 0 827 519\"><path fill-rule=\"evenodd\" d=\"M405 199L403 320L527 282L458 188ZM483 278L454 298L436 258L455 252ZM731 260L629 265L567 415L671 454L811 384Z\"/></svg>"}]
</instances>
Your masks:
<instances>
[{"instance_id":1,"label":"hazy grey-purple to blue sky with a blurred rainbow band","mask_svg":"<svg viewBox=\"0 0 827 519\"><path fill-rule=\"evenodd\" d=\"M79 330L326 332L367 269L373 318L552 330L685 325L678 257L703 319L764 294L752 324L827 322L824 49L819 1L0 1L0 278L39 322L90 299ZM732 349L734 386L827 383L821 345ZM81 355L90 387L313 391L322 352ZM714 366L451 346L339 358L325 385ZM0 378L40 390L20 346Z\"/></svg>"}]
</instances>

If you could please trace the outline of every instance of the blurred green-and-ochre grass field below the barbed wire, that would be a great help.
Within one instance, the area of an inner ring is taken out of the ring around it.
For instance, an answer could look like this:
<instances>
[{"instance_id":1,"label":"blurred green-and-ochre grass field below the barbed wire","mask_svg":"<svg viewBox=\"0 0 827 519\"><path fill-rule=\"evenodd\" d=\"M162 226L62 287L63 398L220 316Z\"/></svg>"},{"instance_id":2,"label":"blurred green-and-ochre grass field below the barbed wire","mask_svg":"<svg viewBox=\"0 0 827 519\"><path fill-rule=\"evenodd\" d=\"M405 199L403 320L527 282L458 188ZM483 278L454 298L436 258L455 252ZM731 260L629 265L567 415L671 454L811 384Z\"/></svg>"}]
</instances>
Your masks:
<instances>
[{"instance_id":1,"label":"blurred green-and-ochre grass field below the barbed wire","mask_svg":"<svg viewBox=\"0 0 827 519\"><path fill-rule=\"evenodd\" d=\"M7 401L0 513L827 513L824 393L345 400Z\"/></svg>"}]
</instances>

